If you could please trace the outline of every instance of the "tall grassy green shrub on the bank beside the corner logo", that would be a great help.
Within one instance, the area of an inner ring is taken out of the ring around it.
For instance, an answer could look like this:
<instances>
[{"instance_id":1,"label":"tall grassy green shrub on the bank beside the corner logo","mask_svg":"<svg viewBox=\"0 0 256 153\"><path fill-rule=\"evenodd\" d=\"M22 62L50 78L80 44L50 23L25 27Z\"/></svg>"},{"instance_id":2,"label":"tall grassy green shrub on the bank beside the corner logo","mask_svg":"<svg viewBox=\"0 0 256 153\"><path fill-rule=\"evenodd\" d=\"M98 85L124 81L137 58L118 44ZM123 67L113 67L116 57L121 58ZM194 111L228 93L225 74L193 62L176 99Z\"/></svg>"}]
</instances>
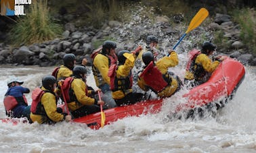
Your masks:
<instances>
[{"instance_id":1,"label":"tall grassy green shrub on the bank beside the corner logo","mask_svg":"<svg viewBox=\"0 0 256 153\"><path fill-rule=\"evenodd\" d=\"M26 16L12 27L10 40L15 46L52 40L62 33L62 27L51 21L47 1L33 1Z\"/></svg>"}]
</instances>

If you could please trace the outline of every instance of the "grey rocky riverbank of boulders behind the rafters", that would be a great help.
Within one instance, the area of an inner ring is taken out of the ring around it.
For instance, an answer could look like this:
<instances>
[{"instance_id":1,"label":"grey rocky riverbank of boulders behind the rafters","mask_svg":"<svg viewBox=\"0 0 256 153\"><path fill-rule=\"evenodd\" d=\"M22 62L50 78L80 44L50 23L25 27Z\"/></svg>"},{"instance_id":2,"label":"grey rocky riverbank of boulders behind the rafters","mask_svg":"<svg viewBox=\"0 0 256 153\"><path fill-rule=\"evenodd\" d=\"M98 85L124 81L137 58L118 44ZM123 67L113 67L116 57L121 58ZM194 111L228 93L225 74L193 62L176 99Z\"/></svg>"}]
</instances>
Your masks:
<instances>
[{"instance_id":1,"label":"grey rocky riverbank of boulders behind the rafters","mask_svg":"<svg viewBox=\"0 0 256 153\"><path fill-rule=\"evenodd\" d=\"M151 21L135 14L135 18L130 22L110 21L100 29L76 27L70 22L64 26L65 31L62 34L62 38L19 48L12 48L6 43L1 43L0 64L60 65L62 57L66 53L74 53L77 56L78 63L81 62L81 59L87 57L88 64L91 65L89 56L94 49L97 49L95 44L98 42L113 38L118 44L116 51L133 50L138 45L144 45L148 34L158 36L160 51L167 53L182 36L184 29L186 29L183 26L184 24L171 25L171 20L176 23L182 23L182 16L173 19L167 18L167 16L156 16L154 21ZM239 25L234 24L231 17L226 14L217 13L213 22L207 26L199 26L192 30L176 50L178 53L188 52L193 47L198 47L198 44L196 44L198 36L204 35L205 40L213 40L213 34L219 30L224 32L224 37L229 40L230 47L217 49L218 53L236 58L244 65L256 65L256 57L248 53L244 48L244 44L239 40Z\"/></svg>"}]
</instances>

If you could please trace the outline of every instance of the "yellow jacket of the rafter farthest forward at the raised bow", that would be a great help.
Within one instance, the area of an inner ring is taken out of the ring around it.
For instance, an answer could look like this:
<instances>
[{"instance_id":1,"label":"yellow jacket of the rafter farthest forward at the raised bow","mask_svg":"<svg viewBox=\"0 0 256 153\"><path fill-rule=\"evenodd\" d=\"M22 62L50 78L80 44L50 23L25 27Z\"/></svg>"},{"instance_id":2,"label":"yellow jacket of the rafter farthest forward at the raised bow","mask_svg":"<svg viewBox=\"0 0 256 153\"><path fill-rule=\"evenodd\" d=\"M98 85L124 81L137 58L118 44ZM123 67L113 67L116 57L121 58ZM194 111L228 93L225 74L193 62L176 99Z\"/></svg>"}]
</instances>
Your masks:
<instances>
[{"instance_id":1,"label":"yellow jacket of the rafter farthest forward at the raised bow","mask_svg":"<svg viewBox=\"0 0 256 153\"><path fill-rule=\"evenodd\" d=\"M203 70L209 73L212 73L219 65L219 61L211 61L207 55L202 53L196 57L195 63L196 65L201 65ZM196 69L196 65L194 65L194 69ZM201 73L203 73L203 71ZM184 78L194 80L194 73L186 71Z\"/></svg>"}]
</instances>

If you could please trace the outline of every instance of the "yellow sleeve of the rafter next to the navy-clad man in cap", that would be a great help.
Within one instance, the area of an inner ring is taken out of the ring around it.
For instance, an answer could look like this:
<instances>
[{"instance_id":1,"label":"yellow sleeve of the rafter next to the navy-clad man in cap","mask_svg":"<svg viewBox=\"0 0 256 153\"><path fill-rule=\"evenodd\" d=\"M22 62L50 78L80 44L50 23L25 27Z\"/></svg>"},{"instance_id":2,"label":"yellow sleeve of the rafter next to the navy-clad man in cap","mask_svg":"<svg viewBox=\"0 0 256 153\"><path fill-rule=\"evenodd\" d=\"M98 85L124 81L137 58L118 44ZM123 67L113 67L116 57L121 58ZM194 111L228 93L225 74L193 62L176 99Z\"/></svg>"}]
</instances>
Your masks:
<instances>
[{"instance_id":1,"label":"yellow sleeve of the rafter next to the navy-clad man in cap","mask_svg":"<svg viewBox=\"0 0 256 153\"><path fill-rule=\"evenodd\" d=\"M45 92L41 98L41 103L43 104L43 108L49 119L56 122L63 121L64 115L57 112L56 98L54 94Z\"/></svg>"}]
</instances>

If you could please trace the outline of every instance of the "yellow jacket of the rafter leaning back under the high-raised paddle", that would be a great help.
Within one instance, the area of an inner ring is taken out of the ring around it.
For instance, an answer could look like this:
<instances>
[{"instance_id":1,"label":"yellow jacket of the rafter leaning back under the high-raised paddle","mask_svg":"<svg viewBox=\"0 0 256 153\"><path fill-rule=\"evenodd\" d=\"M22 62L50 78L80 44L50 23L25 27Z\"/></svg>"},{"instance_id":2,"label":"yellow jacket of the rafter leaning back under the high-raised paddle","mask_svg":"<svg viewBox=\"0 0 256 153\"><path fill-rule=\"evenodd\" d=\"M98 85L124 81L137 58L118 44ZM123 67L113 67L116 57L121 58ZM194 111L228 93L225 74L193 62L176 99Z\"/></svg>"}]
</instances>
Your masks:
<instances>
[{"instance_id":1,"label":"yellow jacket of the rafter leaning back under the high-raised paddle","mask_svg":"<svg viewBox=\"0 0 256 153\"><path fill-rule=\"evenodd\" d=\"M159 71L161 71L162 74L166 74L169 67L175 67L175 65L177 65L178 63L179 63L179 59L177 57L177 53L173 51L171 52L169 57L163 57L162 59L159 59L158 61L156 61L156 67ZM164 88L164 90L162 90L161 92L156 93L157 96L169 97L176 91L176 89L178 88L177 79L171 77L171 80L172 80L171 84L167 85ZM139 74L137 84L138 86L140 86L140 88L142 88L142 90L147 91L150 89L149 86L144 81L144 79L140 78L140 74Z\"/></svg>"}]
</instances>

